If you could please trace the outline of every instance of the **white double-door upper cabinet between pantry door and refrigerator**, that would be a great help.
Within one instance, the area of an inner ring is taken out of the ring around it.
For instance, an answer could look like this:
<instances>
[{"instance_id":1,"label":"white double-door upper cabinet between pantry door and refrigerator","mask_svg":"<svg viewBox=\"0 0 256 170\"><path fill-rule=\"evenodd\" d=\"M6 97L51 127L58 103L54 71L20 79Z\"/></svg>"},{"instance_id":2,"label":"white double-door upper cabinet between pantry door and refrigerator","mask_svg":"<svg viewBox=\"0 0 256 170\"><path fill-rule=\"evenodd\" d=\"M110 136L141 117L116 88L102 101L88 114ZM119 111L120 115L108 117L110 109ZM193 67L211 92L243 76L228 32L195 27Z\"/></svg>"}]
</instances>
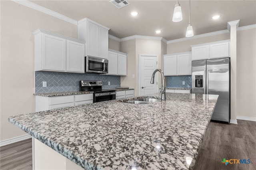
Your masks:
<instances>
[{"instance_id":1,"label":"white double-door upper cabinet between pantry door and refrigerator","mask_svg":"<svg viewBox=\"0 0 256 170\"><path fill-rule=\"evenodd\" d=\"M164 55L164 75L191 75L191 52Z\"/></svg>"}]
</instances>

